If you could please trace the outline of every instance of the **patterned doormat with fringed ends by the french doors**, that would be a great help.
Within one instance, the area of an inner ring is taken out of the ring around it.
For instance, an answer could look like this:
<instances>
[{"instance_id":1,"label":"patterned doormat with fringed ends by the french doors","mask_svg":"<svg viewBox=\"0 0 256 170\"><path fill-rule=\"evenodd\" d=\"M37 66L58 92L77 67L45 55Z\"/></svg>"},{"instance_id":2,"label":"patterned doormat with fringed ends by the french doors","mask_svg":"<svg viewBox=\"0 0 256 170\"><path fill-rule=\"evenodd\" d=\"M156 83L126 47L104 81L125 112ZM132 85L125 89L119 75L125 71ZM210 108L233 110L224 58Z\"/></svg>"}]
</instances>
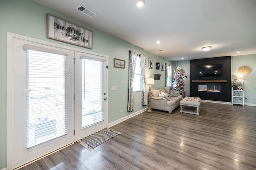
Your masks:
<instances>
[{"instance_id":1,"label":"patterned doormat with fringed ends by the french doors","mask_svg":"<svg viewBox=\"0 0 256 170\"><path fill-rule=\"evenodd\" d=\"M92 135L89 135L88 137L84 137L77 142L83 145L89 151L92 151L92 149L98 147L100 144L106 142L108 139L115 137L119 134L121 133L114 130L103 129Z\"/></svg>"}]
</instances>

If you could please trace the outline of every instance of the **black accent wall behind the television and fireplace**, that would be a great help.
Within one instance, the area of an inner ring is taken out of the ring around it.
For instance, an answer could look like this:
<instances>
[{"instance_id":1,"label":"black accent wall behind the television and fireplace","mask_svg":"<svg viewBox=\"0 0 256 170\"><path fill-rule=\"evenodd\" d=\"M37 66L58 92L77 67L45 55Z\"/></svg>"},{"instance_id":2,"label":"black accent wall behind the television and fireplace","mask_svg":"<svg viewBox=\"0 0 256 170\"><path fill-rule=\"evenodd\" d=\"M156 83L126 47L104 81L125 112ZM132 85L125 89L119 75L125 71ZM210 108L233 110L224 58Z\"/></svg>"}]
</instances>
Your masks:
<instances>
[{"instance_id":1,"label":"black accent wall behind the television and fireplace","mask_svg":"<svg viewBox=\"0 0 256 170\"><path fill-rule=\"evenodd\" d=\"M197 77L196 66L204 64L222 64L222 76ZM220 82L192 82L192 80L227 80ZM198 84L220 84L220 92L200 92ZM190 96L200 97L202 100L231 102L231 56L190 60Z\"/></svg>"}]
</instances>

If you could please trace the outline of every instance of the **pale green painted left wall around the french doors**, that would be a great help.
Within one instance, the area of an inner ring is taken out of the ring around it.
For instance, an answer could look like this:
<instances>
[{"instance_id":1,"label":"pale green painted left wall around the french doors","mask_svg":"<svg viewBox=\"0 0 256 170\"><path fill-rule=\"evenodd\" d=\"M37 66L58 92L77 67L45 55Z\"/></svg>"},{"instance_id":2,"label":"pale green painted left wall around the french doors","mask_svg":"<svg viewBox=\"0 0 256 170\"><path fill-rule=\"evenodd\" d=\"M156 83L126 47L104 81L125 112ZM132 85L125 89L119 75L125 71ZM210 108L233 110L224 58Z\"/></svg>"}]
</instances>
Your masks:
<instances>
[{"instance_id":1,"label":"pale green painted left wall around the french doors","mask_svg":"<svg viewBox=\"0 0 256 170\"><path fill-rule=\"evenodd\" d=\"M76 23L93 31L93 49L70 45L60 41L47 39L46 14L50 13L64 20ZM94 29L85 23L74 20L68 16L46 8L32 0L0 0L0 169L6 167L6 32L16 33L44 41L76 47L87 51L93 51L109 55L109 123L131 114L126 111L128 101L128 51L132 50L146 55L146 78L154 77L154 74L162 74L160 80L152 88L164 86L164 71L156 70L155 63L171 63L170 61L149 53L140 47L113 37L107 33ZM114 68L114 58L126 61L126 68ZM148 68L148 58L153 59L154 68ZM117 86L116 91L111 91L111 86ZM135 111L145 107L141 106L142 92L135 94ZM120 109L123 112L120 113Z\"/></svg>"}]
</instances>

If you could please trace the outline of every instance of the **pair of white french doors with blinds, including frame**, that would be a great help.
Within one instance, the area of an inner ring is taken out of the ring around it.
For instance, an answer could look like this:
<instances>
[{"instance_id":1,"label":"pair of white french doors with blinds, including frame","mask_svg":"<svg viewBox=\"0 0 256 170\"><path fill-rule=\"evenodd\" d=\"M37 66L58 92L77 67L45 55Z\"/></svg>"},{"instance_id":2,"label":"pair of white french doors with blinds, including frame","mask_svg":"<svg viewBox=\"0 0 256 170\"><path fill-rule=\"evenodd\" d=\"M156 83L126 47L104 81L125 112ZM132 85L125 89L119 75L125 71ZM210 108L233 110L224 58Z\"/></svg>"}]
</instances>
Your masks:
<instances>
[{"instance_id":1,"label":"pair of white french doors with blinds, including frame","mask_svg":"<svg viewBox=\"0 0 256 170\"><path fill-rule=\"evenodd\" d=\"M12 33L7 39L8 169L106 127L107 56Z\"/></svg>"}]
</instances>

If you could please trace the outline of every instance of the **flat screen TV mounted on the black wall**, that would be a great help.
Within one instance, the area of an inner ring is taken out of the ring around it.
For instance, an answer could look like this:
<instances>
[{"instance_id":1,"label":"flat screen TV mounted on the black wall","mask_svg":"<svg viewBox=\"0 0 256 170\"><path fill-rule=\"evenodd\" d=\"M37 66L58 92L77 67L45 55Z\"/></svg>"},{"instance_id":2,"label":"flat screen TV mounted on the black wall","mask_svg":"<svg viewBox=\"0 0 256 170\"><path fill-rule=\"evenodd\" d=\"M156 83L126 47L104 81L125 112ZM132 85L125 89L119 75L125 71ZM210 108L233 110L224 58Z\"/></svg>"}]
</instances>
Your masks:
<instances>
[{"instance_id":1,"label":"flat screen TV mounted on the black wall","mask_svg":"<svg viewBox=\"0 0 256 170\"><path fill-rule=\"evenodd\" d=\"M196 66L197 77L222 76L222 64L205 64Z\"/></svg>"}]
</instances>

